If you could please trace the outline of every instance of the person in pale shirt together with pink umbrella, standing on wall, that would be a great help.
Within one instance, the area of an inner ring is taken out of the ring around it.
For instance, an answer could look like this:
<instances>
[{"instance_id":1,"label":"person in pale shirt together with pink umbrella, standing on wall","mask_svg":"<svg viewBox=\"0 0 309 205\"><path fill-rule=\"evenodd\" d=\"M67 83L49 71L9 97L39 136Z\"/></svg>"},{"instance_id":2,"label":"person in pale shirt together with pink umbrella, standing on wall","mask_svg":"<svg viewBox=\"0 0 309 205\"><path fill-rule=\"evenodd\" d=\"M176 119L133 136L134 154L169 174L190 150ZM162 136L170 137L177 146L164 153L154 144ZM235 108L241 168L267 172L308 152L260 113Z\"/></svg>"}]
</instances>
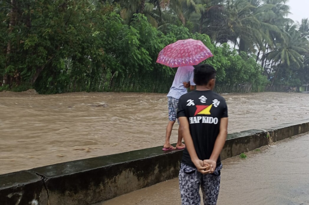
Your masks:
<instances>
[{"instance_id":1,"label":"person in pale shirt together with pink umbrella, standing on wall","mask_svg":"<svg viewBox=\"0 0 309 205\"><path fill-rule=\"evenodd\" d=\"M160 51L156 61L157 63L171 68L178 67L173 84L167 94L169 123L166 128L165 143L162 148L163 151L185 148L179 129L176 147L172 146L170 143L171 131L177 118L178 100L183 94L187 93L188 87L190 87L190 90L194 89L193 65L197 65L212 56L211 51L202 41L191 38L176 41L175 43L167 45Z\"/></svg>"}]
</instances>

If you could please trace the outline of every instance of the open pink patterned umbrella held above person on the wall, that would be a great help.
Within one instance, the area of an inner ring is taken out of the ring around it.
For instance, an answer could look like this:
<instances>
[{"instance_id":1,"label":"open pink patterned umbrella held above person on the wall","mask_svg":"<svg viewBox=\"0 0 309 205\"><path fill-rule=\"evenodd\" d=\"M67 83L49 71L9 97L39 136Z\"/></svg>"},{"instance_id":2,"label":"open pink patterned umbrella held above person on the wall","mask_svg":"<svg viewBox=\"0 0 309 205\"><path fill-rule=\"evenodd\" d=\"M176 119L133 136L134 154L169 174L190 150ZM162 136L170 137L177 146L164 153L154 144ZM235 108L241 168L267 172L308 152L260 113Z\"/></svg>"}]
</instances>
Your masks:
<instances>
[{"instance_id":1,"label":"open pink patterned umbrella held above person on the wall","mask_svg":"<svg viewBox=\"0 0 309 205\"><path fill-rule=\"evenodd\" d=\"M171 68L197 65L214 56L202 41L194 39L179 40L165 46L157 59L157 63Z\"/></svg>"}]
</instances>

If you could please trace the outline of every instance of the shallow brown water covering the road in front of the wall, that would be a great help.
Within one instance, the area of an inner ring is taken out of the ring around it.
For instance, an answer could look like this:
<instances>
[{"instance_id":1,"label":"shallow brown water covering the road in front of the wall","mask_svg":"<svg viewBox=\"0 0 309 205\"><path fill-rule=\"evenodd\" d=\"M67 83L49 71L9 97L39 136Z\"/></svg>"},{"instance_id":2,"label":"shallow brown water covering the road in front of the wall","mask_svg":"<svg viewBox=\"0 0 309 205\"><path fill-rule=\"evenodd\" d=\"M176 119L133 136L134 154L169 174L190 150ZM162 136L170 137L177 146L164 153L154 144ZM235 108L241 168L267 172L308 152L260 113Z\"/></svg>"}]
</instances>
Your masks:
<instances>
[{"instance_id":1,"label":"shallow brown water covering the road in front of the wall","mask_svg":"<svg viewBox=\"0 0 309 205\"><path fill-rule=\"evenodd\" d=\"M308 205L308 146L306 133L223 160L218 205ZM95 205L131 204L181 205L178 178Z\"/></svg>"}]
</instances>

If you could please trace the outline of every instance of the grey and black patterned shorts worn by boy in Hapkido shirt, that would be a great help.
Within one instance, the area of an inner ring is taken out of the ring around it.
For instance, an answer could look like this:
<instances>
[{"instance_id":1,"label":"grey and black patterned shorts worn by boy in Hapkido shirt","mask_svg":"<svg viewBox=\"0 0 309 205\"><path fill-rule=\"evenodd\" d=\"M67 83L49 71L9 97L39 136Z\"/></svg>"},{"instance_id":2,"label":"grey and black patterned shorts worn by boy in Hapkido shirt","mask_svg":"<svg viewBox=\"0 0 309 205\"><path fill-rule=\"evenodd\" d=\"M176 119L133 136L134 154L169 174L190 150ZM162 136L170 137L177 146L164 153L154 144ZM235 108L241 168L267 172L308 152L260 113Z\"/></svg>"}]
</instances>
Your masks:
<instances>
[{"instance_id":1,"label":"grey and black patterned shorts worn by boy in Hapkido shirt","mask_svg":"<svg viewBox=\"0 0 309 205\"><path fill-rule=\"evenodd\" d=\"M196 168L181 163L179 172L179 189L182 205L200 205L200 187L204 205L217 204L220 188L220 170L222 164L212 174L201 174Z\"/></svg>"}]
</instances>

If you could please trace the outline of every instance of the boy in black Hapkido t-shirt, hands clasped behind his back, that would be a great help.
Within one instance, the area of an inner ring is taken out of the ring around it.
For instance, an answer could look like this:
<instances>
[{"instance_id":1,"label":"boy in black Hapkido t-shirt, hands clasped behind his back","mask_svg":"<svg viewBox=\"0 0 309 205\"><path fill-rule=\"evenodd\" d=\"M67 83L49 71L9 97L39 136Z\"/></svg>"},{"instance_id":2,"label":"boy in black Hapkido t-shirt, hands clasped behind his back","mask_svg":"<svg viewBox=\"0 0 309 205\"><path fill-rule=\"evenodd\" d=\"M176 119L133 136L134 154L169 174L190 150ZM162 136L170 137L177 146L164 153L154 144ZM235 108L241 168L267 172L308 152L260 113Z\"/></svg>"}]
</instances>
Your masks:
<instances>
[{"instance_id":1,"label":"boy in black Hapkido t-shirt, hands clasped behind his back","mask_svg":"<svg viewBox=\"0 0 309 205\"><path fill-rule=\"evenodd\" d=\"M179 172L183 205L200 205L200 186L204 204L217 203L220 152L227 136L227 106L224 98L212 91L215 76L212 66L195 66L196 90L179 99L177 117L186 144Z\"/></svg>"}]
</instances>

